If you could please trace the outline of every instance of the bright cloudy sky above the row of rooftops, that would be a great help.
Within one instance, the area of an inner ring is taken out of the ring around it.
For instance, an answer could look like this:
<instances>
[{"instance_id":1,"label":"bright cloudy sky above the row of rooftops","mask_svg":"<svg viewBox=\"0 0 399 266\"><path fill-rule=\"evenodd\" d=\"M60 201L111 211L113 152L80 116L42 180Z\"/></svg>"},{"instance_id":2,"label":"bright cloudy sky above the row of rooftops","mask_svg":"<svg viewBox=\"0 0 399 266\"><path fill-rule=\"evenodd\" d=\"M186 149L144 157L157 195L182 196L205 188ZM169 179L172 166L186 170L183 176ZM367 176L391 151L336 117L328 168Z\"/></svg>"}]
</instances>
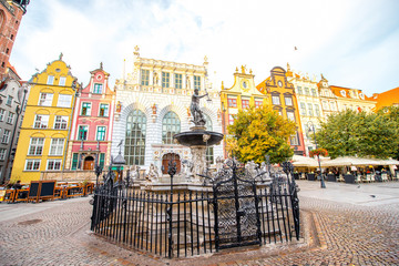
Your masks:
<instances>
[{"instance_id":1,"label":"bright cloudy sky above the row of rooftops","mask_svg":"<svg viewBox=\"0 0 399 266\"><path fill-rule=\"evenodd\" d=\"M113 86L139 45L164 61L206 55L217 88L242 64L257 84L289 62L370 96L399 86L398 10L397 0L31 0L11 63L29 80L62 52L80 82L103 62Z\"/></svg>"}]
</instances>

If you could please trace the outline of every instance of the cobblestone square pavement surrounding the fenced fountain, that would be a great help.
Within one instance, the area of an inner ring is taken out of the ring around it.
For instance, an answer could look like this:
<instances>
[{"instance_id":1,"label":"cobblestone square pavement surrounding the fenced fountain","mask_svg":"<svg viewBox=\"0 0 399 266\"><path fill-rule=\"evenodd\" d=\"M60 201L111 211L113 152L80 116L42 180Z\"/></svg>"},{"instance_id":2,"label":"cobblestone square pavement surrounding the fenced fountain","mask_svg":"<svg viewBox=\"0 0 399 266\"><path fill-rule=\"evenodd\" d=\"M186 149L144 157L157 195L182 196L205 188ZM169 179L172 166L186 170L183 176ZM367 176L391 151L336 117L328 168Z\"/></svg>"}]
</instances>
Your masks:
<instances>
[{"instance_id":1,"label":"cobblestone square pavement surrounding the fenced fountain","mask_svg":"<svg viewBox=\"0 0 399 266\"><path fill-rule=\"evenodd\" d=\"M93 235L90 197L2 203L0 265L399 265L399 183L298 183L301 244L170 260Z\"/></svg>"}]
</instances>

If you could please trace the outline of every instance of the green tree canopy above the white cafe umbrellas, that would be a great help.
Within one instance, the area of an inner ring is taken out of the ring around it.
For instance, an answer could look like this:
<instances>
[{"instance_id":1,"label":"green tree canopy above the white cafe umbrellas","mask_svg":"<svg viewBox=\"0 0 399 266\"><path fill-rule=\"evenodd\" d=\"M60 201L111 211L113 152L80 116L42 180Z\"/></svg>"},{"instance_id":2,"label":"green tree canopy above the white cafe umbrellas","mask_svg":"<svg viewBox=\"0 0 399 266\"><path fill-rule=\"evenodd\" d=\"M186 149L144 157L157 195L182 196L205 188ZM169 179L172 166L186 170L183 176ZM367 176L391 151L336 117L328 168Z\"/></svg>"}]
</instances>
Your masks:
<instances>
[{"instance_id":1,"label":"green tree canopy above the white cafe umbrellas","mask_svg":"<svg viewBox=\"0 0 399 266\"><path fill-rule=\"evenodd\" d=\"M326 122L320 123L317 142L328 151L331 158L356 155L378 158L396 156L399 145L399 120L393 117L398 113L368 114L346 110L331 114Z\"/></svg>"}]
</instances>

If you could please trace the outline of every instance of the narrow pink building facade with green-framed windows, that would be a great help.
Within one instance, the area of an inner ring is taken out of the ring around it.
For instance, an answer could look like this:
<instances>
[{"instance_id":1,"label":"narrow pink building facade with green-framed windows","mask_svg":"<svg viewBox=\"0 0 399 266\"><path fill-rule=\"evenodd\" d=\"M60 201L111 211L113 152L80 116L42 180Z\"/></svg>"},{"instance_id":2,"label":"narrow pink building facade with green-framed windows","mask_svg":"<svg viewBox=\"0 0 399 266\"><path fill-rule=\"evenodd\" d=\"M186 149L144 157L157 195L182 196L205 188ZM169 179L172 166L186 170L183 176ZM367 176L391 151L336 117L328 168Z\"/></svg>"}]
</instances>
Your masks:
<instances>
[{"instance_id":1,"label":"narrow pink building facade with green-framed windows","mask_svg":"<svg viewBox=\"0 0 399 266\"><path fill-rule=\"evenodd\" d=\"M102 63L76 96L65 170L90 171L110 164L115 92Z\"/></svg>"}]
</instances>

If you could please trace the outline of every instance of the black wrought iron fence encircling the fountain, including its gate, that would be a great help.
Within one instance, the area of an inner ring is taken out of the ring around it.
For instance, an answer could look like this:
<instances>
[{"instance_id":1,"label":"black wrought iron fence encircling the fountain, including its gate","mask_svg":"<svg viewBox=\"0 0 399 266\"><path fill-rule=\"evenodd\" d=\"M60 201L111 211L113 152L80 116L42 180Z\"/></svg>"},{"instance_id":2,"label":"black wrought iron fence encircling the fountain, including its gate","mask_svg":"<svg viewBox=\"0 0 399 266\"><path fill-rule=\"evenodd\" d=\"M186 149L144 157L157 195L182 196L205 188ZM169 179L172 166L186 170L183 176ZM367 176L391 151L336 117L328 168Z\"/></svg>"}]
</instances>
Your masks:
<instances>
[{"instance_id":1,"label":"black wrought iron fence encircling the fountain, including its gate","mask_svg":"<svg viewBox=\"0 0 399 266\"><path fill-rule=\"evenodd\" d=\"M91 229L170 258L299 239L299 204L289 170L285 178L273 174L273 182L256 181L235 166L225 173L198 192L146 192L106 182L94 194Z\"/></svg>"}]
</instances>

